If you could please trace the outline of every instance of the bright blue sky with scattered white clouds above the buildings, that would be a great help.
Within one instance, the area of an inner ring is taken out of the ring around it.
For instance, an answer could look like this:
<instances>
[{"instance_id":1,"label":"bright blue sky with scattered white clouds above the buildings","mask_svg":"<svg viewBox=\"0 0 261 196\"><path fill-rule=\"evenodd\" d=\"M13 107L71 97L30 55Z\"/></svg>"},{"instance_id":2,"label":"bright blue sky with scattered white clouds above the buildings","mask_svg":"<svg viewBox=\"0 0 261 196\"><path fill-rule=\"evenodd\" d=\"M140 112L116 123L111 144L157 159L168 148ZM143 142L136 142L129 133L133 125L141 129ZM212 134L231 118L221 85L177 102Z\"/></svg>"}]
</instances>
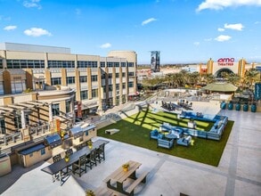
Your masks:
<instances>
[{"instance_id":1,"label":"bright blue sky with scattered white clouds above the buildings","mask_svg":"<svg viewBox=\"0 0 261 196\"><path fill-rule=\"evenodd\" d=\"M0 43L137 53L138 64L261 62L261 0L0 0Z\"/></svg>"}]
</instances>

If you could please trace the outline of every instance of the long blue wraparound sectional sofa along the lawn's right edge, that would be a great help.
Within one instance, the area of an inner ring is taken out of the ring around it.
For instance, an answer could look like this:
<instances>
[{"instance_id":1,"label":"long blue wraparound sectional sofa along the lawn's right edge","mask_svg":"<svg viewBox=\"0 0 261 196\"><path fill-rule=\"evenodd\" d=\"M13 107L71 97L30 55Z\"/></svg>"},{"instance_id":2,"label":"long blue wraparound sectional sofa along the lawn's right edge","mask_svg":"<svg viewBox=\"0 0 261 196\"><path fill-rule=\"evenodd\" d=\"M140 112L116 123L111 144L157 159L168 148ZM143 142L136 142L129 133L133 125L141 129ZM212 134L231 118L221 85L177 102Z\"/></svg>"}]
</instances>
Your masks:
<instances>
[{"instance_id":1,"label":"long blue wraparound sectional sofa along the lawn's right edge","mask_svg":"<svg viewBox=\"0 0 261 196\"><path fill-rule=\"evenodd\" d=\"M190 112L192 113L192 112ZM192 115L190 115L192 117ZM194 119L194 118L193 118ZM206 139L212 139L212 140L220 140L221 136L223 135L224 127L227 124L228 118L226 116L218 116L216 115L215 118L208 118L207 120L205 118L197 118L198 120L204 120L204 121L211 121L215 122L214 126L207 132L207 131L202 131L202 130L197 130L195 128L187 128L187 127L173 127L170 125L161 125L159 127L159 130L169 130L170 131L178 131L181 132L181 134L184 135L192 135L192 136L197 136L201 138L206 138Z\"/></svg>"}]
</instances>

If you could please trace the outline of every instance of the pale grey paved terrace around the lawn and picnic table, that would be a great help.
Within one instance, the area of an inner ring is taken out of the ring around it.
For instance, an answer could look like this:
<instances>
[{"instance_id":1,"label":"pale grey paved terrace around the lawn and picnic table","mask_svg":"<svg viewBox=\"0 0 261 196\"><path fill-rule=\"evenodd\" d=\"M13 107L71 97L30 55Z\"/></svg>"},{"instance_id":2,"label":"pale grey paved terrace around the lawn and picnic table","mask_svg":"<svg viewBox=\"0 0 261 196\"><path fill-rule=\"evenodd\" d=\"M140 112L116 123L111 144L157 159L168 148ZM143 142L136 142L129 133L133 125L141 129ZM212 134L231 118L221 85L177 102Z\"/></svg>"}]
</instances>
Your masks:
<instances>
[{"instance_id":1,"label":"pale grey paved terrace around the lawn and picnic table","mask_svg":"<svg viewBox=\"0 0 261 196\"><path fill-rule=\"evenodd\" d=\"M218 167L110 141L105 147L106 160L82 177L69 176L60 186L59 182L52 182L52 176L40 170L49 164L47 162L30 170L16 166L10 175L0 177L0 193L4 196L84 196L86 189L105 186L102 180L106 176L133 159L142 163L138 175L150 171L147 184L139 186L136 195L175 196L180 192L192 196L260 195L261 113L235 110L221 110L220 113L235 123Z\"/></svg>"}]
</instances>

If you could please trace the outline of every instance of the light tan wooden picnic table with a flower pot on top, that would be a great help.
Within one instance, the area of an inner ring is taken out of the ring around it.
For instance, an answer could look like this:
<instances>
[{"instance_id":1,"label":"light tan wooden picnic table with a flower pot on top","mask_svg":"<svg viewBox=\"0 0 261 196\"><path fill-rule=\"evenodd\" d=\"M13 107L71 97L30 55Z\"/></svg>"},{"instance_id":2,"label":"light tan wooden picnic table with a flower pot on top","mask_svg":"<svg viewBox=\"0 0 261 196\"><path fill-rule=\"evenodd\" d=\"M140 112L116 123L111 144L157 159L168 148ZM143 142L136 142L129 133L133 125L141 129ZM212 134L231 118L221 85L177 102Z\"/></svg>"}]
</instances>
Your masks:
<instances>
[{"instance_id":1,"label":"light tan wooden picnic table with a flower pot on top","mask_svg":"<svg viewBox=\"0 0 261 196\"><path fill-rule=\"evenodd\" d=\"M127 178L131 178L134 180L136 179L136 170L142 164L134 160L129 160L127 163L129 164L128 171L124 171L122 166L120 166L113 173L111 173L110 176L106 177L106 179L103 180L103 182L107 184L107 187L109 189L128 194L123 189L123 184ZM116 186L112 185L113 182L116 182Z\"/></svg>"}]
</instances>

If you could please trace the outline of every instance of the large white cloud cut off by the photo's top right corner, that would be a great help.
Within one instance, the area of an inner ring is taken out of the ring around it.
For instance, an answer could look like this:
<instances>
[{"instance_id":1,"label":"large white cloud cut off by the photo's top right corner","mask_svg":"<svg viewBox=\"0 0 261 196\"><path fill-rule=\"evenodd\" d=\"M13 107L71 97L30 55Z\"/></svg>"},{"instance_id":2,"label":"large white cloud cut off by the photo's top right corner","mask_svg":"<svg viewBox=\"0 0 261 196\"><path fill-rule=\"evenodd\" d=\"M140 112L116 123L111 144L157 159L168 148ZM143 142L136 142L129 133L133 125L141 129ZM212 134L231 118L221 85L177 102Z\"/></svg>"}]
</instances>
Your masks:
<instances>
[{"instance_id":1,"label":"large white cloud cut off by the photo's top right corner","mask_svg":"<svg viewBox=\"0 0 261 196\"><path fill-rule=\"evenodd\" d=\"M236 7L244 5L261 6L261 0L205 0L198 8L197 12L202 10L223 10L225 7Z\"/></svg>"}]
</instances>

